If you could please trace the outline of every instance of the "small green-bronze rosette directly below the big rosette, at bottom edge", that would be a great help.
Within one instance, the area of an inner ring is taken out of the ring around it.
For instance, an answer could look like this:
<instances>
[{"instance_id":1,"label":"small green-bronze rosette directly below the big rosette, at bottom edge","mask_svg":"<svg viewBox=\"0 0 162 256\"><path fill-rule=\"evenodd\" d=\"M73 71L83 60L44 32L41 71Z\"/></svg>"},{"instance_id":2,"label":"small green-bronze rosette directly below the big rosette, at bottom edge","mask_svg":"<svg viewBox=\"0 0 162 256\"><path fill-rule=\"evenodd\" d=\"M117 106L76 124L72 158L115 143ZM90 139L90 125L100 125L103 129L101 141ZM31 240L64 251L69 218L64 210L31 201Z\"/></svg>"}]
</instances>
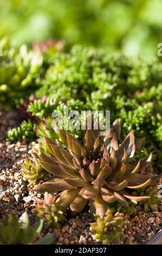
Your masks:
<instances>
[{"instance_id":1,"label":"small green-bronze rosette directly below the big rosette, at bottom edge","mask_svg":"<svg viewBox=\"0 0 162 256\"><path fill-rule=\"evenodd\" d=\"M125 235L122 231L124 225L124 214L116 212L114 215L111 210L107 210L105 215L96 216L96 222L91 223L91 235L97 241L102 241L103 245L108 243L119 244Z\"/></svg>"}]
</instances>

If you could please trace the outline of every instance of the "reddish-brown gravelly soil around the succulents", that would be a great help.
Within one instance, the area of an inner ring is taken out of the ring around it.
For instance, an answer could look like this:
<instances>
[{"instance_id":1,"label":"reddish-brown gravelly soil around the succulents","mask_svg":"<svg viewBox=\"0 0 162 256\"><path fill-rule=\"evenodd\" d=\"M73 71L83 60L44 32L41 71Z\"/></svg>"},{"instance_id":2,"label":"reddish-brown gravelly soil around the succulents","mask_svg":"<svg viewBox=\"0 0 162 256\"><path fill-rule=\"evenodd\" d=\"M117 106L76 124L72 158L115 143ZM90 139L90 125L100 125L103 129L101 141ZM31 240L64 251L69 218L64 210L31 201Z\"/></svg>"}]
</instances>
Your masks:
<instances>
[{"instance_id":1,"label":"reddish-brown gravelly soil around the succulents","mask_svg":"<svg viewBox=\"0 0 162 256\"><path fill-rule=\"evenodd\" d=\"M32 186L23 178L21 164L25 157L30 155L36 142L5 141L5 132L15 127L17 122L18 117L15 111L10 114L0 112L0 217L9 214L20 217L24 211L28 211L30 221L34 223L38 219L31 212L32 205L37 198L43 198L43 195L30 191ZM150 172L153 172L152 169ZM135 214L125 216L125 244L146 243L162 227L162 203L157 212L145 213L140 206L136 208ZM54 233L55 243L59 245L97 244L99 242L89 234L90 222L92 220L87 209L80 214L67 211L66 221L60 224L59 229L44 228L41 236Z\"/></svg>"}]
</instances>

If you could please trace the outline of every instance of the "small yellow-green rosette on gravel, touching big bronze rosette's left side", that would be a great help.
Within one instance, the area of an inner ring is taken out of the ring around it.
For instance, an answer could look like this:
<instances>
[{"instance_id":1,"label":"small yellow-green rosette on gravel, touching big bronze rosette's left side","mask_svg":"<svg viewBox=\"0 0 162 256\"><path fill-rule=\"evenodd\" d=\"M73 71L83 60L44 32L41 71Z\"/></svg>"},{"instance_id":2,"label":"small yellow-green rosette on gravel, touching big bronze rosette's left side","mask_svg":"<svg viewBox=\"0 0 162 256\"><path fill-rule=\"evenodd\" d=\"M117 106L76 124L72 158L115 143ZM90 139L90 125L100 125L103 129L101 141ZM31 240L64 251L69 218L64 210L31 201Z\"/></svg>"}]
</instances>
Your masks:
<instances>
[{"instance_id":1,"label":"small yellow-green rosette on gravel, touching big bronze rosette's left side","mask_svg":"<svg viewBox=\"0 0 162 256\"><path fill-rule=\"evenodd\" d=\"M22 164L22 175L30 184L34 184L38 179L43 178L44 169L35 157L33 157L33 160L26 158Z\"/></svg>"}]
</instances>

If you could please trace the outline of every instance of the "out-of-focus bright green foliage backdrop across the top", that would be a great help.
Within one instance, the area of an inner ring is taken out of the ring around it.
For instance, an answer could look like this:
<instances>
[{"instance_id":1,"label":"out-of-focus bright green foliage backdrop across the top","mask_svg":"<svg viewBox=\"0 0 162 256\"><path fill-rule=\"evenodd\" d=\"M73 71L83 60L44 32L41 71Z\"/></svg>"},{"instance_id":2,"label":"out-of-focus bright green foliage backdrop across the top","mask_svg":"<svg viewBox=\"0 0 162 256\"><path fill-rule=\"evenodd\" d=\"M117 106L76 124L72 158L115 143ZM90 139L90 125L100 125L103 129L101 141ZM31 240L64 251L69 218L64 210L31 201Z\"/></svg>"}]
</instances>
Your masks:
<instances>
[{"instance_id":1,"label":"out-of-focus bright green foliage backdrop across the top","mask_svg":"<svg viewBox=\"0 0 162 256\"><path fill-rule=\"evenodd\" d=\"M0 36L17 45L64 39L75 44L157 55L161 0L0 0Z\"/></svg>"}]
</instances>

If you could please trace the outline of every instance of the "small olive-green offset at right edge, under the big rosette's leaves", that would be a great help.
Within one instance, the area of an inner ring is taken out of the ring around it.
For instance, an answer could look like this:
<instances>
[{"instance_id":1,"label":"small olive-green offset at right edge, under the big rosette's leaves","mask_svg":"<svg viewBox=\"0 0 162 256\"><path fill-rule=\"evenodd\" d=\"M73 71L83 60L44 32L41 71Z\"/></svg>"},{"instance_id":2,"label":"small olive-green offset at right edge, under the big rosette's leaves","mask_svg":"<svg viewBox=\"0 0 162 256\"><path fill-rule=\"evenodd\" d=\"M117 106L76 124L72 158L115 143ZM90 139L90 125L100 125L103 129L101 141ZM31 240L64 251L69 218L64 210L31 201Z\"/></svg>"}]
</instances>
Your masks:
<instances>
[{"instance_id":1,"label":"small olive-green offset at right edge, under the big rosette's leaves","mask_svg":"<svg viewBox=\"0 0 162 256\"><path fill-rule=\"evenodd\" d=\"M133 194L135 196L149 196L150 198L139 202L139 205L144 207L144 211L147 212L149 210L158 211L158 205L161 203L161 200L158 198L158 188L154 187L146 187L141 190L134 191Z\"/></svg>"}]
</instances>

